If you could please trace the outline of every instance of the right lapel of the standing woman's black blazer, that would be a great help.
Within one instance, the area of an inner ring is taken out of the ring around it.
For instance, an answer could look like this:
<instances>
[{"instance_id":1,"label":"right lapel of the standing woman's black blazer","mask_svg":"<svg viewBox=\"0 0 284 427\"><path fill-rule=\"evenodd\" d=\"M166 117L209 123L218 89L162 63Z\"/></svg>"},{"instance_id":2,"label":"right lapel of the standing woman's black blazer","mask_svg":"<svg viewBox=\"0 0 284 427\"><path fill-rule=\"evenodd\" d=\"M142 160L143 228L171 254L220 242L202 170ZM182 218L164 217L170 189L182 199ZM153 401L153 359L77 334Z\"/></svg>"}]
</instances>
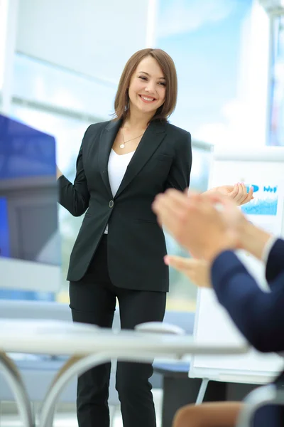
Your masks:
<instances>
[{"instance_id":1,"label":"right lapel of the standing woman's black blazer","mask_svg":"<svg viewBox=\"0 0 284 427\"><path fill-rule=\"evenodd\" d=\"M132 179L141 171L165 137L166 123L152 122L146 129L136 152L133 154L124 178L121 181L115 197L118 197Z\"/></svg>"}]
</instances>

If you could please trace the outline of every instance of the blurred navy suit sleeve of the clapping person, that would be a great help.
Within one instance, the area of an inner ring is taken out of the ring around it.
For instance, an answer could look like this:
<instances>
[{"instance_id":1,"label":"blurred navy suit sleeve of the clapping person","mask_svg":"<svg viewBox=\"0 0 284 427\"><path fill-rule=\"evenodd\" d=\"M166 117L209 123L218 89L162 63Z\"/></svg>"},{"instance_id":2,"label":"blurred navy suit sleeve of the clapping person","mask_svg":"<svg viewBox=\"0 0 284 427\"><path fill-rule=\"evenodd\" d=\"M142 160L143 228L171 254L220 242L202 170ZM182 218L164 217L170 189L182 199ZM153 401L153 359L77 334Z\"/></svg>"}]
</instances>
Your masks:
<instances>
[{"instance_id":1,"label":"blurred navy suit sleeve of the clapping person","mask_svg":"<svg viewBox=\"0 0 284 427\"><path fill-rule=\"evenodd\" d=\"M260 352L284 350L284 272L263 292L239 258L221 253L212 264L212 285L244 337Z\"/></svg>"}]
</instances>

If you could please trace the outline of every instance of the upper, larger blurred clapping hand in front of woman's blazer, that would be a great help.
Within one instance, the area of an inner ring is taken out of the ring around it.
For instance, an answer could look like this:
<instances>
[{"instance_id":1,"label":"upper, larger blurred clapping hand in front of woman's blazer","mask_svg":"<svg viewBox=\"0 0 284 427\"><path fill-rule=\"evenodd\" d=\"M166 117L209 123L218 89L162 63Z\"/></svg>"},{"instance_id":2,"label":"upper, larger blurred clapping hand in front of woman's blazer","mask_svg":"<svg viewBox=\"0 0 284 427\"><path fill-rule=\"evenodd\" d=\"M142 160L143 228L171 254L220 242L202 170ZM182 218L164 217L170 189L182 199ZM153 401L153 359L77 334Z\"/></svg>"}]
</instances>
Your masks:
<instances>
[{"instance_id":1,"label":"upper, larger blurred clapping hand in front of woman's blazer","mask_svg":"<svg viewBox=\"0 0 284 427\"><path fill-rule=\"evenodd\" d=\"M212 261L218 253L238 246L236 230L230 227L210 197L191 192L189 196L169 189L158 194L153 211L178 243L195 258ZM236 211L236 204L232 203Z\"/></svg>"}]
</instances>

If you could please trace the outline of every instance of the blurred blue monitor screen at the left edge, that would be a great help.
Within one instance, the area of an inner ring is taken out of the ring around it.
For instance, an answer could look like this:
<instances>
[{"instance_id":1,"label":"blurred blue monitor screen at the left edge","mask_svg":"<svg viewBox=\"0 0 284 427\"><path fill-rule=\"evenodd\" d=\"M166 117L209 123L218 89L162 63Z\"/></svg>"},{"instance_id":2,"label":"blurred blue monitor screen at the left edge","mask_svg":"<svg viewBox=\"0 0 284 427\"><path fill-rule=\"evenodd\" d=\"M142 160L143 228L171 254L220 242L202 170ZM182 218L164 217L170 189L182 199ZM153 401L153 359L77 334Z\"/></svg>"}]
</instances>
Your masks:
<instances>
[{"instance_id":1,"label":"blurred blue monitor screen at the left edge","mask_svg":"<svg viewBox=\"0 0 284 427\"><path fill-rule=\"evenodd\" d=\"M57 199L55 138L0 115L0 257L60 265ZM0 298L54 294L0 289Z\"/></svg>"}]
</instances>

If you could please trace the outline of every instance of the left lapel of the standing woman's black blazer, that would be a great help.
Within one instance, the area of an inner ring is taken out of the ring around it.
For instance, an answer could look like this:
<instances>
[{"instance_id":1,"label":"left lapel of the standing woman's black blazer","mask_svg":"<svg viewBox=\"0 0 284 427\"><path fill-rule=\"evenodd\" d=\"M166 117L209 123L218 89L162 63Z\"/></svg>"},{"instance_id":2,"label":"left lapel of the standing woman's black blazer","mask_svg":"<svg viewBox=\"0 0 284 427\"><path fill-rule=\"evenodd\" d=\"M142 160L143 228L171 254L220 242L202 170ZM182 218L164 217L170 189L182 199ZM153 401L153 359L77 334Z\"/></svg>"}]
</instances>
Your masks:
<instances>
[{"instance_id":1,"label":"left lapel of the standing woman's black blazer","mask_svg":"<svg viewBox=\"0 0 284 427\"><path fill-rule=\"evenodd\" d=\"M117 132L119 132L119 127L121 127L122 120L117 120L115 122L111 121L104 128L102 132L102 137L99 141L99 172L102 175L104 185L107 187L109 194L111 195L111 186L109 185L109 173L108 173L108 164L109 164L109 154L111 152L111 147L114 144L114 139Z\"/></svg>"}]
</instances>

